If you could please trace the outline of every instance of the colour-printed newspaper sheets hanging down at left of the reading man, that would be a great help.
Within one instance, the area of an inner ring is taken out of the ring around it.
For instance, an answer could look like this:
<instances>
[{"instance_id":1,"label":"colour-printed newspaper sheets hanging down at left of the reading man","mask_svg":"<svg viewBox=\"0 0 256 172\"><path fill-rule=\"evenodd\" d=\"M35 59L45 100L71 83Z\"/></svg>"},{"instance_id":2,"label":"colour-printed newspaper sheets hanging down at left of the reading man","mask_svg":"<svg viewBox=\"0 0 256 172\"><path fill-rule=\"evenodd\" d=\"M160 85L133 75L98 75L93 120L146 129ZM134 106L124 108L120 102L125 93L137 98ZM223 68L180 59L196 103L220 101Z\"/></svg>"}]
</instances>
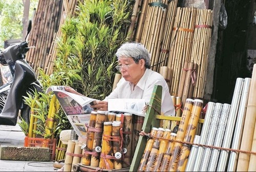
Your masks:
<instances>
[{"instance_id":1,"label":"colour-printed newspaper sheets hanging down at left of the reading man","mask_svg":"<svg viewBox=\"0 0 256 172\"><path fill-rule=\"evenodd\" d=\"M76 134L86 138L86 126L90 122L91 111L93 111L91 105L98 100L67 92L65 86L51 86L46 90L47 93L51 91L56 95Z\"/></svg>"}]
</instances>

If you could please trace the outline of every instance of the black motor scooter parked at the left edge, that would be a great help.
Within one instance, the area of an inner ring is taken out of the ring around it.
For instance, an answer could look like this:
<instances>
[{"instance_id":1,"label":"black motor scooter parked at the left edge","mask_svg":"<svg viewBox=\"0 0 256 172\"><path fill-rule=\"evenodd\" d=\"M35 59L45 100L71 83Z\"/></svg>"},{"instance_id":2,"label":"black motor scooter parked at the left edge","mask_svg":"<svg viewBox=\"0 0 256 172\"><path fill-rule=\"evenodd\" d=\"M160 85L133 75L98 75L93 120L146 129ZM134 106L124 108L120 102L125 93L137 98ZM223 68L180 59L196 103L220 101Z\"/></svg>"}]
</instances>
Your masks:
<instances>
[{"instance_id":1,"label":"black motor scooter parked at the left edge","mask_svg":"<svg viewBox=\"0 0 256 172\"><path fill-rule=\"evenodd\" d=\"M31 20L29 21L27 36L31 31ZM27 38L26 36L26 38ZM14 43L2 52L0 51L0 63L8 65L12 81L0 87L0 125L15 126L19 111L22 118L29 124L30 107L25 104L24 97L42 91L42 86L37 80L34 69L25 60L25 54L29 51L26 41Z\"/></svg>"}]
</instances>

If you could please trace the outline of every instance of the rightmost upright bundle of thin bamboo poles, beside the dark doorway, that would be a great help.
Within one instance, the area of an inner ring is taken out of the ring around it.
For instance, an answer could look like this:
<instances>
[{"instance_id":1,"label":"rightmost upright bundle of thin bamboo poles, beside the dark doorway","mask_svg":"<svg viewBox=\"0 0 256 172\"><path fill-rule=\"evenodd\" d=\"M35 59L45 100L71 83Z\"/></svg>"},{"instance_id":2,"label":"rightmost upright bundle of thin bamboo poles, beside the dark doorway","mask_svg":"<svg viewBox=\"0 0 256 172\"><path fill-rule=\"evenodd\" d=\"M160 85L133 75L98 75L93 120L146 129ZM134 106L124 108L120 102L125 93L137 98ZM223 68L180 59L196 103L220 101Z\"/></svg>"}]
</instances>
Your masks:
<instances>
[{"instance_id":1,"label":"rightmost upright bundle of thin bamboo poles, beside the dark doorway","mask_svg":"<svg viewBox=\"0 0 256 172\"><path fill-rule=\"evenodd\" d=\"M195 24L191 62L198 64L198 72L193 96L202 98L210 48L212 10L198 10Z\"/></svg>"}]
</instances>

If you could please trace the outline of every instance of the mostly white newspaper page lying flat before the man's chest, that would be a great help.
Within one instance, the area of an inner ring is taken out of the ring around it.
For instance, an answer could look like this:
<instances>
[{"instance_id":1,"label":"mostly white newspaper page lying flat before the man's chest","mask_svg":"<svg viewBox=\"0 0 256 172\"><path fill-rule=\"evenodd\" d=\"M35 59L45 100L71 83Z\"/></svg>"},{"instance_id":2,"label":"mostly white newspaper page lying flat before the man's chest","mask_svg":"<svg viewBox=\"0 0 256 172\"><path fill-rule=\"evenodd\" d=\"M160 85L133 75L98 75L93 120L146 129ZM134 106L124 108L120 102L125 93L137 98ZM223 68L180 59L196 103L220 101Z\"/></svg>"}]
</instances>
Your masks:
<instances>
[{"instance_id":1,"label":"mostly white newspaper page lying flat before the man's chest","mask_svg":"<svg viewBox=\"0 0 256 172\"><path fill-rule=\"evenodd\" d=\"M119 111L145 116L144 99L108 99L108 111Z\"/></svg>"}]
</instances>

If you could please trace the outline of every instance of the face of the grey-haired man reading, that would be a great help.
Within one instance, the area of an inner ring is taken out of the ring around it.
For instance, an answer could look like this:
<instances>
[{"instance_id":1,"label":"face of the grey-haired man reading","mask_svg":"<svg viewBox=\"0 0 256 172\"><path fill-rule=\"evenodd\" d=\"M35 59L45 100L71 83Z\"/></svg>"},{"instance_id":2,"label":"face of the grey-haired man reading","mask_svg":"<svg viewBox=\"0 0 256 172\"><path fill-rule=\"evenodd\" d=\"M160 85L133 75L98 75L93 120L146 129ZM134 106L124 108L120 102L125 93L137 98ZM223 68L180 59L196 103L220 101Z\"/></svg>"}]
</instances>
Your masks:
<instances>
[{"instance_id":1,"label":"face of the grey-haired man reading","mask_svg":"<svg viewBox=\"0 0 256 172\"><path fill-rule=\"evenodd\" d=\"M140 59L138 64L135 63L133 58L122 58L118 59L118 66L120 72L125 81L137 84L145 72L144 59Z\"/></svg>"}]
</instances>

